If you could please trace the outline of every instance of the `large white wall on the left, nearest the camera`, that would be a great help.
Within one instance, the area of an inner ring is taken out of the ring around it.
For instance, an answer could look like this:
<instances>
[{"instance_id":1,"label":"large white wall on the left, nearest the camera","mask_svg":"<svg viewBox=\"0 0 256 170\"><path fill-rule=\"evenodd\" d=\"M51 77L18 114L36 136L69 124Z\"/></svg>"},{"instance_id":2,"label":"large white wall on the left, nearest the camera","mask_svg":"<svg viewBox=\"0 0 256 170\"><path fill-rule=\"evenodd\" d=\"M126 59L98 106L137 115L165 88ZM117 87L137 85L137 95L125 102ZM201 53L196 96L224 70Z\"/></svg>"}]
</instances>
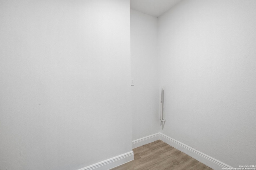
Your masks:
<instances>
[{"instance_id":1,"label":"large white wall on the left, nearest the camera","mask_svg":"<svg viewBox=\"0 0 256 170\"><path fill-rule=\"evenodd\" d=\"M132 151L130 1L0 2L0 169Z\"/></svg>"}]
</instances>

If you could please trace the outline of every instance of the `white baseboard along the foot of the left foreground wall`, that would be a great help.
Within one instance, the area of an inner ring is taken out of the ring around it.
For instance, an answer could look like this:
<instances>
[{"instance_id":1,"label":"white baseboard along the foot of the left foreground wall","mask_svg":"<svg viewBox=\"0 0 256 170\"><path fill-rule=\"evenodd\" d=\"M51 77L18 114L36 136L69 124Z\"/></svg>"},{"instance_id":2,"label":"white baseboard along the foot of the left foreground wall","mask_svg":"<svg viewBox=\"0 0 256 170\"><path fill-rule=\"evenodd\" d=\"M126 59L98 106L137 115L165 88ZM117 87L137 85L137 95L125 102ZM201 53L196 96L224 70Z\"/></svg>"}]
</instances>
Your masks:
<instances>
[{"instance_id":1,"label":"white baseboard along the foot of the left foreground wall","mask_svg":"<svg viewBox=\"0 0 256 170\"><path fill-rule=\"evenodd\" d=\"M114 158L104 160L102 162L98 162L96 164L81 168L79 170L109 170L111 168L114 168L116 166L125 164L127 162L132 161L132 160L134 160L133 151L127 152L125 154L121 154L121 155L116 156Z\"/></svg>"}]
</instances>

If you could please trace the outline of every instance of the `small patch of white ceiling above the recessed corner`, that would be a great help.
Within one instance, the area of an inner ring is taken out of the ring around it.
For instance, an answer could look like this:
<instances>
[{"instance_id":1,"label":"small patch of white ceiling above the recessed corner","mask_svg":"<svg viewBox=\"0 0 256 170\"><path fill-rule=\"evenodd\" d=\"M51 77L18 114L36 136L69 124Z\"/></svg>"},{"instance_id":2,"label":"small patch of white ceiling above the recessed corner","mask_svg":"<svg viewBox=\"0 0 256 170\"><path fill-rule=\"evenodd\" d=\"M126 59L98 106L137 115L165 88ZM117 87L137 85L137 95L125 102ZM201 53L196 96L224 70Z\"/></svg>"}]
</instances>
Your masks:
<instances>
[{"instance_id":1,"label":"small patch of white ceiling above the recessed corner","mask_svg":"<svg viewBox=\"0 0 256 170\"><path fill-rule=\"evenodd\" d=\"M159 17L181 0L130 0L130 8Z\"/></svg>"}]
</instances>

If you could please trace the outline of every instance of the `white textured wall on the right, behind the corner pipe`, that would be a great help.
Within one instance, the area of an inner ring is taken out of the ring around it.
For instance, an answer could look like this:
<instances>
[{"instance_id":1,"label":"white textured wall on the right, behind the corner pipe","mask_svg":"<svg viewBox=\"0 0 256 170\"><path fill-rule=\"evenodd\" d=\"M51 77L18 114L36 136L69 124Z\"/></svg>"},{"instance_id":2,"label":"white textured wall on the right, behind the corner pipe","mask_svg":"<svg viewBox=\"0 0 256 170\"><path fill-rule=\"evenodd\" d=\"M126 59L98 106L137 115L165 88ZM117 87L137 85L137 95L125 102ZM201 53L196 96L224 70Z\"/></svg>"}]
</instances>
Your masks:
<instances>
[{"instance_id":1,"label":"white textured wall on the right, behind the corner pipe","mask_svg":"<svg viewBox=\"0 0 256 170\"><path fill-rule=\"evenodd\" d=\"M159 18L161 132L232 167L256 160L255 9L184 0Z\"/></svg>"}]
</instances>

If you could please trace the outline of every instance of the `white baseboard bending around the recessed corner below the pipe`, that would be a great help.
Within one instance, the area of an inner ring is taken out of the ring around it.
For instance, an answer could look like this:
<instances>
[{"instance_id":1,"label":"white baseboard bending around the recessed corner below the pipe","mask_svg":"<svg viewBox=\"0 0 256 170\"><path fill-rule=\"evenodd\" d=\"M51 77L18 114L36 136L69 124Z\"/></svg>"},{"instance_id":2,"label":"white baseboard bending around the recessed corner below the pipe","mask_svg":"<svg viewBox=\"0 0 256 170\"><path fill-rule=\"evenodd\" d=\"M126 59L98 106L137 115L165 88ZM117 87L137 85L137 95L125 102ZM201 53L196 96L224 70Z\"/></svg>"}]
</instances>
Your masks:
<instances>
[{"instance_id":1,"label":"white baseboard bending around the recessed corner below the pipe","mask_svg":"<svg viewBox=\"0 0 256 170\"><path fill-rule=\"evenodd\" d=\"M185 145L184 143L172 139L171 137L168 137L162 133L156 133L154 135L149 135L147 137L143 137L135 141L132 141L132 148L134 149L136 147L140 147L142 145L146 145L157 140L161 140L164 143L167 143L168 145L180 150L181 152L191 156L192 158L202 162L203 164L209 166L214 170L220 170L222 168L232 168L231 166L219 160L216 160L215 158L212 158L211 156L208 156L188 145Z\"/></svg>"}]
</instances>

